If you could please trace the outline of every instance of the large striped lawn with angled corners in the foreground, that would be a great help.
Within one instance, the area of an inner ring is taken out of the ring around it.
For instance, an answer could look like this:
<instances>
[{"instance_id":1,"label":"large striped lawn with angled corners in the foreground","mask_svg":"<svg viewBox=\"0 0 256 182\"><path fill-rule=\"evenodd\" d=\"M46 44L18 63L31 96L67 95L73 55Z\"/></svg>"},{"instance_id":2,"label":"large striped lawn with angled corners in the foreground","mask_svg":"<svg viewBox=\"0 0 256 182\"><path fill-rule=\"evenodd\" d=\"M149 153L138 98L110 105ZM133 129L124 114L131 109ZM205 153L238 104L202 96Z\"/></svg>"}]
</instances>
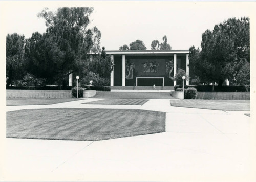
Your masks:
<instances>
[{"instance_id":1,"label":"large striped lawn with angled corners in the foreground","mask_svg":"<svg viewBox=\"0 0 256 182\"><path fill-rule=\"evenodd\" d=\"M165 131L165 112L25 109L7 112L8 138L97 141Z\"/></svg>"}]
</instances>

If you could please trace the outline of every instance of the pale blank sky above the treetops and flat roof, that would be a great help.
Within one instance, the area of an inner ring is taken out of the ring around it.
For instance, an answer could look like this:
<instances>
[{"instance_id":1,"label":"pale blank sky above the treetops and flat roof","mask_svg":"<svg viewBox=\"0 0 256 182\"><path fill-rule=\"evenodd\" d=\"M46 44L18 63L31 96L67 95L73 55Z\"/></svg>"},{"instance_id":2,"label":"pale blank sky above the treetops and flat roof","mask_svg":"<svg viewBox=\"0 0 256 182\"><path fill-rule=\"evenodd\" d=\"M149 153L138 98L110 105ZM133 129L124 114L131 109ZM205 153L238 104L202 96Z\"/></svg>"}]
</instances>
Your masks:
<instances>
[{"instance_id":1,"label":"pale blank sky above the treetops and flat roof","mask_svg":"<svg viewBox=\"0 0 256 182\"><path fill-rule=\"evenodd\" d=\"M25 6L24 6L25 5ZM27 5L27 6L26 6ZM101 47L119 50L123 44L142 40L151 49L151 42L167 36L173 50L184 50L195 45L200 47L202 33L231 17L251 15L250 4L241 2L80 2L80 4L23 4L13 3L4 8L5 35L45 32L45 20L37 14L44 7L56 11L57 7L94 7L90 28L101 31ZM22 8L21 8L22 7Z\"/></svg>"}]
</instances>

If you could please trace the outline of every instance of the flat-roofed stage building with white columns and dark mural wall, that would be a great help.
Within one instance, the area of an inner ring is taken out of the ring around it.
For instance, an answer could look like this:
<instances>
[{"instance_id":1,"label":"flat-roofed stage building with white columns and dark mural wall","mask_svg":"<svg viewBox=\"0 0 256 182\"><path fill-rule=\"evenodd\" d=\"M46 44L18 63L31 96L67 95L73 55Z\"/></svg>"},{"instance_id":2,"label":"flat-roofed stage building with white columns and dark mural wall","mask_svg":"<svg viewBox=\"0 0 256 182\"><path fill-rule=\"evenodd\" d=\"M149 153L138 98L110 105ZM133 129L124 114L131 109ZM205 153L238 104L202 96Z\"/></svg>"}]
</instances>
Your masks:
<instances>
[{"instance_id":1,"label":"flat-roofed stage building with white columns and dark mural wall","mask_svg":"<svg viewBox=\"0 0 256 182\"><path fill-rule=\"evenodd\" d=\"M106 51L114 61L110 86L175 86L179 68L189 75L188 50ZM189 85L189 81L185 81ZM72 75L69 77L72 85Z\"/></svg>"}]
</instances>

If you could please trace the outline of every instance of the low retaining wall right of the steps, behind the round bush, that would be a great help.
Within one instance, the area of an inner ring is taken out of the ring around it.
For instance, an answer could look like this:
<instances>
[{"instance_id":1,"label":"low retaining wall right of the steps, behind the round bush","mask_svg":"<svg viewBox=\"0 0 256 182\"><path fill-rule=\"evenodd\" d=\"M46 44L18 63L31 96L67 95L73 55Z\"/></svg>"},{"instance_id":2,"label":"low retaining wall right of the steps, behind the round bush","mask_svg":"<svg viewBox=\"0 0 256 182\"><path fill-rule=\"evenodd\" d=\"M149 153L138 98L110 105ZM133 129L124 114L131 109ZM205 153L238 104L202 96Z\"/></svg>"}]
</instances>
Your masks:
<instances>
[{"instance_id":1,"label":"low retaining wall right of the steps, behind the round bush","mask_svg":"<svg viewBox=\"0 0 256 182\"><path fill-rule=\"evenodd\" d=\"M250 100L250 92L197 92L196 99Z\"/></svg>"}]
</instances>

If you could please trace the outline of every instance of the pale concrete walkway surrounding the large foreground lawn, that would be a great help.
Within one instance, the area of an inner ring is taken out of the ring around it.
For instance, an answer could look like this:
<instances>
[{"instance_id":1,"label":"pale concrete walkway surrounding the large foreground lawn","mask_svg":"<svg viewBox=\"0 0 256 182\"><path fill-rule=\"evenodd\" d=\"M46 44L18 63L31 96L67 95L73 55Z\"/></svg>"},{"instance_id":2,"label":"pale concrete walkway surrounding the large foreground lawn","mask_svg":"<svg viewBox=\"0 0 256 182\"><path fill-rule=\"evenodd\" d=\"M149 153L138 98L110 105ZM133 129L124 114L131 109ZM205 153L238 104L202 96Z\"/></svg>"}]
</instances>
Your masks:
<instances>
[{"instance_id":1,"label":"pale concrete walkway surrounding the large foreground lawn","mask_svg":"<svg viewBox=\"0 0 256 182\"><path fill-rule=\"evenodd\" d=\"M6 139L4 181L255 181L249 111L81 104L32 108L135 108L166 112L166 132L104 141Z\"/></svg>"}]
</instances>

